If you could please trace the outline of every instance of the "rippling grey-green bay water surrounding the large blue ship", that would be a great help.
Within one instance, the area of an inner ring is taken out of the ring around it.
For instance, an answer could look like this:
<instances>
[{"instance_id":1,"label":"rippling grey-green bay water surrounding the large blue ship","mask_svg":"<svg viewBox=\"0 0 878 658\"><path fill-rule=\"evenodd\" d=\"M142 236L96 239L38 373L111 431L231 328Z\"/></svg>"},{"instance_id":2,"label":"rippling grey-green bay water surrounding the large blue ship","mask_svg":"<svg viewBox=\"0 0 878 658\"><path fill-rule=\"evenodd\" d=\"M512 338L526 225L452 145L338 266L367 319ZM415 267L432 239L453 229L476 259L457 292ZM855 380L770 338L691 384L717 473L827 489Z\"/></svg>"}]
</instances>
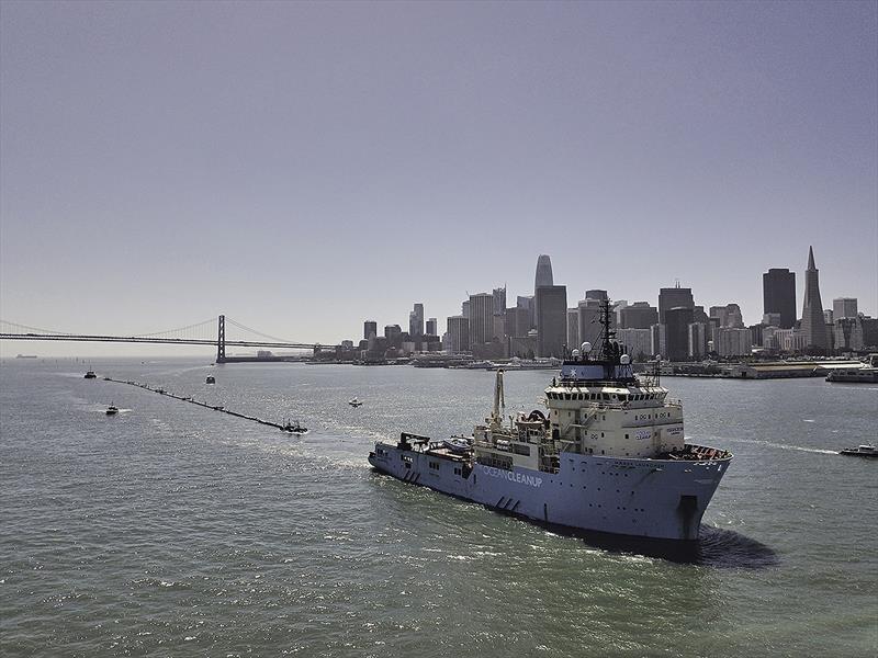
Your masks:
<instances>
[{"instance_id":1,"label":"rippling grey-green bay water surrounding the large blue ship","mask_svg":"<svg viewBox=\"0 0 878 658\"><path fill-rule=\"evenodd\" d=\"M471 430L491 373L93 366L312 432L2 361L3 656L878 654L878 463L834 454L875 440L878 387L666 378L687 436L735 454L680 563L369 468L376 439ZM507 410L549 376L507 374Z\"/></svg>"}]
</instances>

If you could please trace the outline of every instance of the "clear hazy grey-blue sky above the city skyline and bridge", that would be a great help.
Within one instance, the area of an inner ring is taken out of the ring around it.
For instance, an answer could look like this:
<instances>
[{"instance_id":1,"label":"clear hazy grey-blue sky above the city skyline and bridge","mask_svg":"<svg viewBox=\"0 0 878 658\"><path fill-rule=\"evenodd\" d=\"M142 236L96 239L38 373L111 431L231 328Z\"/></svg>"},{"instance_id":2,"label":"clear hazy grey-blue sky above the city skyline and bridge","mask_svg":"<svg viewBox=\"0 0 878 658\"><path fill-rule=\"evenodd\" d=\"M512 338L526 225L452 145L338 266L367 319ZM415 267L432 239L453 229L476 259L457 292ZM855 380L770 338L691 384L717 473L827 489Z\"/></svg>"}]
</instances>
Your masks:
<instances>
[{"instance_id":1,"label":"clear hazy grey-blue sky above the city skyline and bridge","mask_svg":"<svg viewBox=\"0 0 878 658\"><path fill-rule=\"evenodd\" d=\"M8 2L0 317L364 319L588 288L878 311L876 2ZM143 353L7 342L3 355ZM168 352L167 348L162 349ZM190 349L191 351L191 349Z\"/></svg>"}]
</instances>

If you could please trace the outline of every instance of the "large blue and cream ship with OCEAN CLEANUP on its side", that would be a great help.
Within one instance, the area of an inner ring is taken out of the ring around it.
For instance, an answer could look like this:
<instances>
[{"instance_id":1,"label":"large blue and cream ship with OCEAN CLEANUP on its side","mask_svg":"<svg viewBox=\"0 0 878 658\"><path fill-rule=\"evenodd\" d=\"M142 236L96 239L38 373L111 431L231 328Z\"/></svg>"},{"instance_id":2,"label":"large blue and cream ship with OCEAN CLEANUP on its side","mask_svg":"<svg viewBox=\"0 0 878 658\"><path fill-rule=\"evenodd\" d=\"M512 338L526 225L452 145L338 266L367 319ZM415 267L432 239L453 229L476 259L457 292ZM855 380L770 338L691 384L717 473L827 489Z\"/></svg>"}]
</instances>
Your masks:
<instances>
[{"instance_id":1,"label":"large blue and cream ship with OCEAN CLEANUP on its side","mask_svg":"<svg viewBox=\"0 0 878 658\"><path fill-rule=\"evenodd\" d=\"M600 347L574 350L545 388L548 415L505 423L503 372L494 408L464 446L403 432L375 443L369 463L424 485L547 525L690 542L732 454L686 443L683 406L657 373L639 379L601 304Z\"/></svg>"}]
</instances>

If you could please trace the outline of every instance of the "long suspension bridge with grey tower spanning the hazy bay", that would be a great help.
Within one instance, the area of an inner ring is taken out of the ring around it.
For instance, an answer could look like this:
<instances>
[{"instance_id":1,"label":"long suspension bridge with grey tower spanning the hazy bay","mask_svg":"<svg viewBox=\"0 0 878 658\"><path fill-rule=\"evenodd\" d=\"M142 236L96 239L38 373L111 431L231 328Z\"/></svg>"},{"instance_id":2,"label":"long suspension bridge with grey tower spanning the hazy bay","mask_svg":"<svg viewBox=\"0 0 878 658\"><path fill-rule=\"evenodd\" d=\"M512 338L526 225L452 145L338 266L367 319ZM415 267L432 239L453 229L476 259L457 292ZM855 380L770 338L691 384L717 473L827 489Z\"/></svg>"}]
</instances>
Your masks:
<instances>
[{"instance_id":1,"label":"long suspension bridge with grey tower spanning the hazy bay","mask_svg":"<svg viewBox=\"0 0 878 658\"><path fill-rule=\"evenodd\" d=\"M226 322L237 331L249 334L248 338L226 338ZM38 329L0 320L0 340L54 340L74 342L122 342L122 343L153 343L173 345L216 345L216 363L225 363L233 359L226 356L227 347L236 348L264 348L264 349L293 349L312 350L315 353L322 350L335 351L339 345L304 343L284 340L268 336L251 329L232 318L221 315L217 320L210 319L195 325L155 331L151 333L137 333L134 336L104 336L98 333L65 333L49 329Z\"/></svg>"}]
</instances>

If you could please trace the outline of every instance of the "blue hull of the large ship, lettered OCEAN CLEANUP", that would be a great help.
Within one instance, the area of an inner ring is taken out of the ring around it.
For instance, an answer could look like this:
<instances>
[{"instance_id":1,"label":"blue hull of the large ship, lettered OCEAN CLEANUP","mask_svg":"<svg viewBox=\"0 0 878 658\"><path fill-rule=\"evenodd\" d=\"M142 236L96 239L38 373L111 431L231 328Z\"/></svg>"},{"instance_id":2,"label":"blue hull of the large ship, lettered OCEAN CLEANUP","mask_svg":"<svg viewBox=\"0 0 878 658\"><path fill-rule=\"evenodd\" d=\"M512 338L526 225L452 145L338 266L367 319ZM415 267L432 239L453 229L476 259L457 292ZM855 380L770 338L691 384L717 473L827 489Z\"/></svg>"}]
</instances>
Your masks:
<instances>
[{"instance_id":1,"label":"blue hull of the large ship, lettered OCEAN CLEANUP","mask_svg":"<svg viewBox=\"0 0 878 658\"><path fill-rule=\"evenodd\" d=\"M731 457L618 458L561 453L558 473L513 470L379 442L378 470L502 512L581 531L694 541Z\"/></svg>"}]
</instances>

